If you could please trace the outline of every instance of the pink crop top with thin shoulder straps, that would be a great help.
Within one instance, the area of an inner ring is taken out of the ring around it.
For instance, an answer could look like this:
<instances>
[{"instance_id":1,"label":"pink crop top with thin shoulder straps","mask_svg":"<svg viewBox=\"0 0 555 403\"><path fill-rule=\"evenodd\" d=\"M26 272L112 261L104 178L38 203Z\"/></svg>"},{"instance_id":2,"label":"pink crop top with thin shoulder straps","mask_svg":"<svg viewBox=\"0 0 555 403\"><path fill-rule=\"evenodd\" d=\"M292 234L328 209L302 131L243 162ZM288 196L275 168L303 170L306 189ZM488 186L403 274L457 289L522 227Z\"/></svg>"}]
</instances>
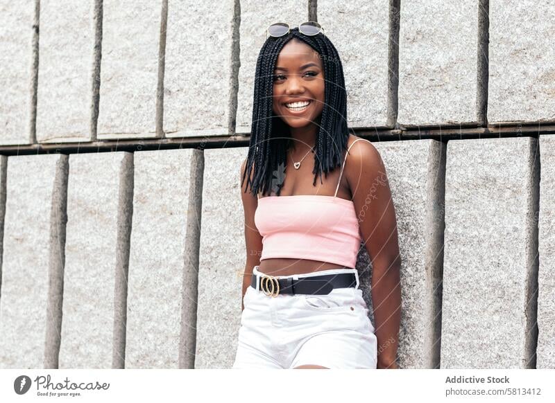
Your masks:
<instances>
[{"instance_id":1,"label":"pink crop top with thin shoulder straps","mask_svg":"<svg viewBox=\"0 0 555 403\"><path fill-rule=\"evenodd\" d=\"M364 138L350 147L359 140ZM260 260L298 258L355 268L361 243L355 204L337 197L345 161L347 154L334 196L259 197L255 225L262 235Z\"/></svg>"}]
</instances>

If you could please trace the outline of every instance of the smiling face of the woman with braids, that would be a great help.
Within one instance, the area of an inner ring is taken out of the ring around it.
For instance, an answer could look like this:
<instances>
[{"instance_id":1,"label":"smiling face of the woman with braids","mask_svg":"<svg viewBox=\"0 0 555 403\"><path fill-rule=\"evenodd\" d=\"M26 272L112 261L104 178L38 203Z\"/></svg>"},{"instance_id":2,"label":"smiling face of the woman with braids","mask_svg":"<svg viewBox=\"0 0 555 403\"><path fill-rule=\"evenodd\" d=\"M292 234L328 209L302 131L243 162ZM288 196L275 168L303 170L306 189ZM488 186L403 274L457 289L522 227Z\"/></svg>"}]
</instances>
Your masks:
<instances>
[{"instance_id":1,"label":"smiling face of the woman with braids","mask_svg":"<svg viewBox=\"0 0 555 403\"><path fill-rule=\"evenodd\" d=\"M273 77L273 112L291 127L314 124L324 107L324 70L313 48L292 39L282 48Z\"/></svg>"}]
</instances>

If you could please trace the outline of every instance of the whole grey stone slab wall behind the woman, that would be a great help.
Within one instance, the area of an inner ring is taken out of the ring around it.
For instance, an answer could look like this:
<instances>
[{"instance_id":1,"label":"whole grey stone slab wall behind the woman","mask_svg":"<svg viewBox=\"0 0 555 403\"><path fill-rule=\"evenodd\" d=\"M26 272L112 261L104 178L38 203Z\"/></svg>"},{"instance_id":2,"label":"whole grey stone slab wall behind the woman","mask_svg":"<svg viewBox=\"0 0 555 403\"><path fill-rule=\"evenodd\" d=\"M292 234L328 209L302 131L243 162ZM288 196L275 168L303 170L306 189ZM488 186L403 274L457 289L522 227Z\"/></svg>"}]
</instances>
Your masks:
<instances>
[{"instance_id":1,"label":"whole grey stone slab wall behind the woman","mask_svg":"<svg viewBox=\"0 0 555 403\"><path fill-rule=\"evenodd\" d=\"M0 0L0 19L1 368L230 368L256 57L269 24L307 20L386 164L400 367L555 368L555 1ZM357 268L371 308L364 247Z\"/></svg>"}]
</instances>

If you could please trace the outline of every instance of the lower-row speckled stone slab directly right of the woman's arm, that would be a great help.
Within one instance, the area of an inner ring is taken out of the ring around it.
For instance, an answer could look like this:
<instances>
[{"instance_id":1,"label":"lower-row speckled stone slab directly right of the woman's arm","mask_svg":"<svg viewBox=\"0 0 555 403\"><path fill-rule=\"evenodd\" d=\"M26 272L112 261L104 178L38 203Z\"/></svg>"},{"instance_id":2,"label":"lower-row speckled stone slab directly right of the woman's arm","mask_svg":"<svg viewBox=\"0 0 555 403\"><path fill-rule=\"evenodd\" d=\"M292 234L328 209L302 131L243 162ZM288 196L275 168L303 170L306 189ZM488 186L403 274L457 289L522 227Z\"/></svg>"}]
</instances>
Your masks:
<instances>
[{"instance_id":1,"label":"lower-row speckled stone slab directly right of the woman's arm","mask_svg":"<svg viewBox=\"0 0 555 403\"><path fill-rule=\"evenodd\" d=\"M436 368L441 338L445 144L411 140L373 145L386 168L402 260L398 362L401 368ZM369 258L364 249L359 254L357 269L370 320L375 324Z\"/></svg>"}]
</instances>

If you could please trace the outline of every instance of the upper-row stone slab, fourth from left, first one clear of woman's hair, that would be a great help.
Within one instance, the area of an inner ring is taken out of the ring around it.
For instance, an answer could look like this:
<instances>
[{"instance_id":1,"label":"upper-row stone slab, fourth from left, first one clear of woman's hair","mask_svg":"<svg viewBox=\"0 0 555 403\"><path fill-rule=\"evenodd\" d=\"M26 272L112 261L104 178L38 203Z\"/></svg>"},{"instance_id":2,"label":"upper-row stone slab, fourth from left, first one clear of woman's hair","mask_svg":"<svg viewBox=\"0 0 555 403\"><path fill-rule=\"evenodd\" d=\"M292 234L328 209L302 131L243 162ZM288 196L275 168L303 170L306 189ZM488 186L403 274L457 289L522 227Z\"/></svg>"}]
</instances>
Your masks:
<instances>
[{"instance_id":1,"label":"upper-row stone slab, fourth from left, first one clear of woman's hair","mask_svg":"<svg viewBox=\"0 0 555 403\"><path fill-rule=\"evenodd\" d=\"M233 3L169 1L164 74L167 137L228 134Z\"/></svg>"}]
</instances>

